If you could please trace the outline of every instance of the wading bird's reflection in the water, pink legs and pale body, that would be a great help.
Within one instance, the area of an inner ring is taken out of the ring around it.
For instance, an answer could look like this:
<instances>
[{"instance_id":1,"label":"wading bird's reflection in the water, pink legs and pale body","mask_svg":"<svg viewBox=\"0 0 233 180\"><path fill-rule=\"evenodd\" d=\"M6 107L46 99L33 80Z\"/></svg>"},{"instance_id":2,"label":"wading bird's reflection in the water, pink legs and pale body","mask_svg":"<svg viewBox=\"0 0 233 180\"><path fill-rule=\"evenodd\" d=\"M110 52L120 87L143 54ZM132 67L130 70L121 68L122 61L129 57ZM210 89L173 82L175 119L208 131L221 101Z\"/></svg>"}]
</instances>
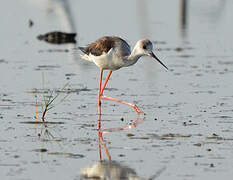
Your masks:
<instances>
[{"instance_id":1,"label":"wading bird's reflection in the water, pink legs and pale body","mask_svg":"<svg viewBox=\"0 0 233 180\"><path fill-rule=\"evenodd\" d=\"M121 130L131 129L136 127L140 122L143 122L145 117L136 118L136 120L127 126L119 128L108 128L98 131L98 152L99 152L99 161L93 165L86 166L81 169L81 174L84 178L90 179L114 179L114 180L142 180L143 178L137 176L136 172L117 161L112 161L110 152L107 148L106 142L104 141L103 134L108 134L111 132L117 132ZM98 124L100 126L101 115L99 115ZM102 149L103 148L103 149ZM103 160L102 150L107 156L107 160Z\"/></svg>"}]
</instances>

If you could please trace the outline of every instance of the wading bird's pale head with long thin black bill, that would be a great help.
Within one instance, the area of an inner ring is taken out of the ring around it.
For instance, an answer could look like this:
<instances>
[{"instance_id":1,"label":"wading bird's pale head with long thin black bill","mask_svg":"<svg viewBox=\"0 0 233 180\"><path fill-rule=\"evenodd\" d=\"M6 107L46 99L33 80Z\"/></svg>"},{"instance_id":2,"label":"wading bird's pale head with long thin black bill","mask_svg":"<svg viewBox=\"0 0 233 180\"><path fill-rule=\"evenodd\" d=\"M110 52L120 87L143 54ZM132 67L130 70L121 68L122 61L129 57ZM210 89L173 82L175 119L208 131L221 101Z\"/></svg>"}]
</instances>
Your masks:
<instances>
[{"instance_id":1,"label":"wading bird's pale head with long thin black bill","mask_svg":"<svg viewBox=\"0 0 233 180\"><path fill-rule=\"evenodd\" d=\"M138 53L140 53L142 56L150 56L156 59L163 67L165 67L168 70L167 66L165 66L162 63L162 61L160 61L159 58L157 58L153 53L153 44L150 40L148 39L140 40L137 42L136 46Z\"/></svg>"}]
</instances>

